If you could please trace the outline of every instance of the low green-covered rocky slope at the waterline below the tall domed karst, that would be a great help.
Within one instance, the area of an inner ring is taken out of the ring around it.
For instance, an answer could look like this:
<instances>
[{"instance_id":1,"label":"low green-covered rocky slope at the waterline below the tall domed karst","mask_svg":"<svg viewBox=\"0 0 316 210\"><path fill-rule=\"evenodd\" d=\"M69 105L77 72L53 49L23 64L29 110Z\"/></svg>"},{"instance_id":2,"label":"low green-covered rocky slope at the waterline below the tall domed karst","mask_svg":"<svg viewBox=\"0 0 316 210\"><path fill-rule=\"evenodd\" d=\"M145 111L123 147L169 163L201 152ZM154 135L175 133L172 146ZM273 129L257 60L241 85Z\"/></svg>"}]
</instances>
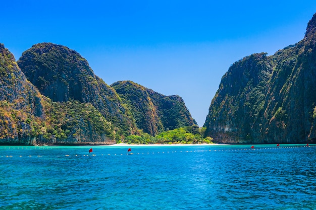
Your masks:
<instances>
[{"instance_id":1,"label":"low green-covered rocky slope at the waterline below the tall domed karst","mask_svg":"<svg viewBox=\"0 0 316 210\"><path fill-rule=\"evenodd\" d=\"M46 132L41 144L114 144L115 131L110 122L89 103L51 102L47 105Z\"/></svg>"}]
</instances>

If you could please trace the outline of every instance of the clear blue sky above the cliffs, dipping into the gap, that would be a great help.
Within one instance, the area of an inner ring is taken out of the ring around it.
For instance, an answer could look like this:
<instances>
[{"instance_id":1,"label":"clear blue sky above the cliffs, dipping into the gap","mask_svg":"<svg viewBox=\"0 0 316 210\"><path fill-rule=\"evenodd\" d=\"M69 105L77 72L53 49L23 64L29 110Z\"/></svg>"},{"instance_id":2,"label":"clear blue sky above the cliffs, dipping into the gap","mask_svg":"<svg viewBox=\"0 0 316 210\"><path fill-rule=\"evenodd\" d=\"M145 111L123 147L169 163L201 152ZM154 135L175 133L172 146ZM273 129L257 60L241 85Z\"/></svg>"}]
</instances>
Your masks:
<instances>
[{"instance_id":1,"label":"clear blue sky above the cliffs, dipping into the gap","mask_svg":"<svg viewBox=\"0 0 316 210\"><path fill-rule=\"evenodd\" d=\"M111 85L131 80L183 98L202 126L222 76L244 56L304 37L316 1L3 1L0 43L19 59L65 45Z\"/></svg>"}]
</instances>

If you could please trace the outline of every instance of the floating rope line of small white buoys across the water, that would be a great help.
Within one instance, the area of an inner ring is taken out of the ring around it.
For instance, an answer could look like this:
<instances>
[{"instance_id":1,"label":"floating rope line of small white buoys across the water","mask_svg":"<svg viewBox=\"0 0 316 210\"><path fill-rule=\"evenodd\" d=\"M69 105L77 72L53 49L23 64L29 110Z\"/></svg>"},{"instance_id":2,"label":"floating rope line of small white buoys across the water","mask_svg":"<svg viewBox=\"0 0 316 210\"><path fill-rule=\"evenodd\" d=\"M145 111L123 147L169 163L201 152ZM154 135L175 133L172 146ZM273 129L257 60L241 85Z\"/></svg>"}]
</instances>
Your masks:
<instances>
[{"instance_id":1,"label":"floating rope line of small white buoys across the water","mask_svg":"<svg viewBox=\"0 0 316 210\"><path fill-rule=\"evenodd\" d=\"M155 155L155 154L168 154L168 153L205 153L205 152L214 152L214 153L217 153L217 152L242 152L242 151L260 151L260 150L280 150L280 149L293 149L293 148L314 148L316 147L316 145L308 145L308 146L293 146L293 147L290 147L290 146L287 146L287 147L281 147L281 146L277 146L277 147L268 147L268 148L250 148L250 149L247 149L247 148L243 148L243 149L216 149L216 150L186 150L186 151L163 151L163 152L142 152L142 153L126 153L126 154L123 154L123 153L115 153L115 154L91 154L91 155L88 155L88 154L84 154L84 155L58 155L56 157L95 157L95 156L123 156L123 155L149 155L149 154L152 154L152 155ZM4 149L7 149L7 148L4 148ZM8 148L9 150L11 150L11 148L9 147ZM12 148L13 149L19 149L19 148ZM22 148L23 149L23 148ZM38 149L38 148L37 148ZM32 150L29 149L29 150ZM8 152L8 151L6 151ZM48 155L47 155L48 156ZM45 156L45 157L47 157ZM0 158L13 158L14 156L13 155L3 155L3 156L0 156ZM31 155L25 155L25 156L22 156L22 155L18 155L16 157L20 157L20 158L23 158L23 157L28 157L28 158L41 158L43 156L41 155L36 155L36 156L31 156ZM51 156L49 156L51 157Z\"/></svg>"}]
</instances>

